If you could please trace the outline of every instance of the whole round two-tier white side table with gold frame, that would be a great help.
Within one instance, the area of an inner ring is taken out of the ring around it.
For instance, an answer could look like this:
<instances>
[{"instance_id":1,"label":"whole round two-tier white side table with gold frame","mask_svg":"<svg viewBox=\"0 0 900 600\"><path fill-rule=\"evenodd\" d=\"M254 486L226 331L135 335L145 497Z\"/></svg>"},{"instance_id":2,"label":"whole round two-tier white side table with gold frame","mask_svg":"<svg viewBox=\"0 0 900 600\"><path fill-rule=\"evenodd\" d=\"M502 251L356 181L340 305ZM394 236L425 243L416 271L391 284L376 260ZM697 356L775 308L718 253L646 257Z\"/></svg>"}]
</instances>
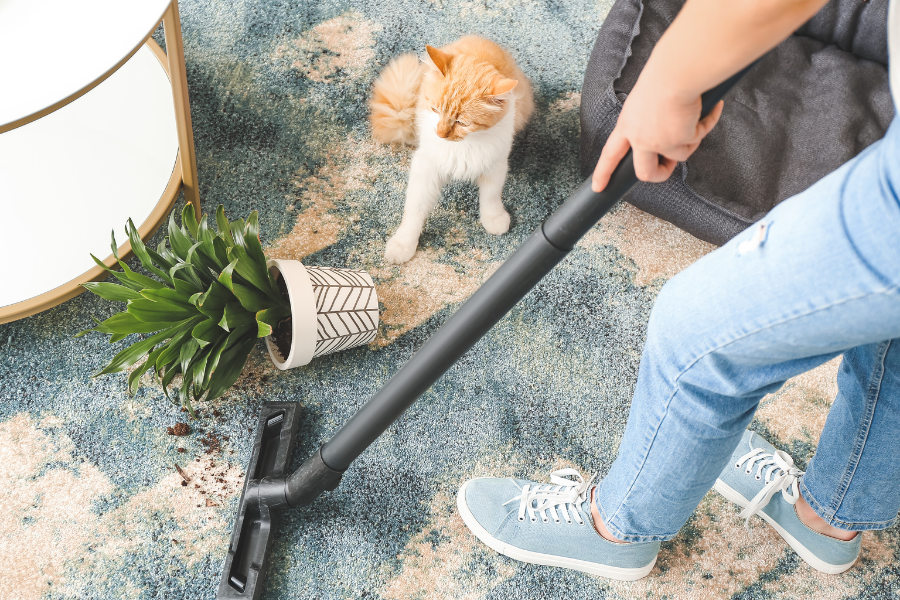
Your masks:
<instances>
[{"instance_id":1,"label":"whole round two-tier white side table with gold frame","mask_svg":"<svg viewBox=\"0 0 900 600\"><path fill-rule=\"evenodd\" d=\"M0 87L0 323L105 278L110 231L130 256L180 190L199 216L177 0L0 0Z\"/></svg>"}]
</instances>

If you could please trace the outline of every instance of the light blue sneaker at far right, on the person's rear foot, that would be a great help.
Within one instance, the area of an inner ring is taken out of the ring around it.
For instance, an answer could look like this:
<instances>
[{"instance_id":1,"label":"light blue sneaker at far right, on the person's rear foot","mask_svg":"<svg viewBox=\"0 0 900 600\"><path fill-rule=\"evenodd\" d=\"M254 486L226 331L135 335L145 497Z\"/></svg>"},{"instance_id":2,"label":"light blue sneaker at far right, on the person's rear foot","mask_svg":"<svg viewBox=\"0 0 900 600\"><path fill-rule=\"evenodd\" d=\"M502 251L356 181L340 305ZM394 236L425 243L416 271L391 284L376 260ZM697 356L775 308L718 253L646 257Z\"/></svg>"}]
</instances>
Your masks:
<instances>
[{"instance_id":1,"label":"light blue sneaker at far right, on the person's rear foot","mask_svg":"<svg viewBox=\"0 0 900 600\"><path fill-rule=\"evenodd\" d=\"M832 575L843 573L856 562L862 536L857 534L845 542L813 531L800 521L794 505L800 499L802 475L787 453L745 431L714 487L744 509L742 518L749 521L758 514L765 519L812 568Z\"/></svg>"}]
</instances>

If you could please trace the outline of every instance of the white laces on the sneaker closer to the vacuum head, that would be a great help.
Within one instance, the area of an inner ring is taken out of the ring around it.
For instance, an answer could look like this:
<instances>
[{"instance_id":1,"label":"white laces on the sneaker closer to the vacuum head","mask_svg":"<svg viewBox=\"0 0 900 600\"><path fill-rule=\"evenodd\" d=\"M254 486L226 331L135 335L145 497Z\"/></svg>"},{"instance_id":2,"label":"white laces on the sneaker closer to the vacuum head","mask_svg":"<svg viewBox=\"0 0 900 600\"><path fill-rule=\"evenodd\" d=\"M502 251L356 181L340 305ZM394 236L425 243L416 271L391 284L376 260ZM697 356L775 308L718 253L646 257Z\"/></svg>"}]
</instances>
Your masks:
<instances>
[{"instance_id":1,"label":"white laces on the sneaker closer to the vacuum head","mask_svg":"<svg viewBox=\"0 0 900 600\"><path fill-rule=\"evenodd\" d=\"M569 479L569 477L575 477L575 479ZM503 506L518 500L520 521L525 520L527 512L532 523L537 521L537 515L541 516L544 523L549 523L550 515L552 515L553 520L557 523L564 520L569 525L573 521L584 525L586 515L581 512L581 505L587 499L588 490L593 481L594 477L585 480L575 469L560 469L550 474L549 484L526 483L519 488L522 493L508 502L504 502ZM516 487L519 487L518 483L516 483Z\"/></svg>"}]
</instances>

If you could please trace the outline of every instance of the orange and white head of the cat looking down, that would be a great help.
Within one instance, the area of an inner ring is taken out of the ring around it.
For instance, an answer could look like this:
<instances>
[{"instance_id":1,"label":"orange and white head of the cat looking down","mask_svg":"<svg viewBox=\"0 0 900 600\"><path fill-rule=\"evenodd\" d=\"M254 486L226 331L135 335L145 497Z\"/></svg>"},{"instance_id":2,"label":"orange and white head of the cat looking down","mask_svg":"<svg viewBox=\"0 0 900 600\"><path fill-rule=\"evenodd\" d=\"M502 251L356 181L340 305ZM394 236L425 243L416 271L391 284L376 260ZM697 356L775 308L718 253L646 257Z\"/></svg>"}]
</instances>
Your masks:
<instances>
[{"instance_id":1,"label":"orange and white head of the cat looking down","mask_svg":"<svg viewBox=\"0 0 900 600\"><path fill-rule=\"evenodd\" d=\"M438 137L456 142L503 118L516 81L504 79L493 66L470 56L426 48L433 68L422 82L424 103L433 113Z\"/></svg>"}]
</instances>

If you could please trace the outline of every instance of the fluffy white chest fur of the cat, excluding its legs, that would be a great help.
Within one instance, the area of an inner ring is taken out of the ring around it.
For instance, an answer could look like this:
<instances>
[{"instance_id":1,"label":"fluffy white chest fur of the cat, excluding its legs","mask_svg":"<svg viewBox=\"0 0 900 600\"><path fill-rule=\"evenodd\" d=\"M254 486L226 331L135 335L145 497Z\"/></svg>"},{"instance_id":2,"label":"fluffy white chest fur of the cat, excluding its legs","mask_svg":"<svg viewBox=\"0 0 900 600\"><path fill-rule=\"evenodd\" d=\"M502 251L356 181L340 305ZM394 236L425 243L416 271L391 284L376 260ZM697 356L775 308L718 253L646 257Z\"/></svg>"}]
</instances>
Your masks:
<instances>
[{"instance_id":1,"label":"fluffy white chest fur of the cat, excluding its legs","mask_svg":"<svg viewBox=\"0 0 900 600\"><path fill-rule=\"evenodd\" d=\"M496 163L505 163L509 158L515 135L515 98L508 102L506 114L493 127L470 133L456 142L437 135L437 114L419 109L416 113L419 134L416 154L421 154L447 179L475 180Z\"/></svg>"}]
</instances>

